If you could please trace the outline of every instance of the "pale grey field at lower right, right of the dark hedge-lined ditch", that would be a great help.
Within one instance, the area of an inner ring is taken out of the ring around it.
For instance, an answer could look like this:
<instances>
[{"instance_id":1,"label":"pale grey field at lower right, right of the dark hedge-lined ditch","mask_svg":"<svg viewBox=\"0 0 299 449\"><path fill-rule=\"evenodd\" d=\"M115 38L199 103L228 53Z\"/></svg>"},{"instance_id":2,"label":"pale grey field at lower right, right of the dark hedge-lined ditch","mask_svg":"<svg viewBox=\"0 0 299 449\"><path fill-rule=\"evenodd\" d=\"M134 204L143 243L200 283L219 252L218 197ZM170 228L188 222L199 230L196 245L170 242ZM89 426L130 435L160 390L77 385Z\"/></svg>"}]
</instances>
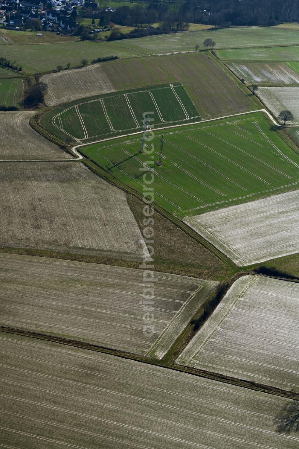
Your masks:
<instances>
[{"instance_id":1,"label":"pale grey field at lower right, right of the dark hedge-lined ditch","mask_svg":"<svg viewBox=\"0 0 299 449\"><path fill-rule=\"evenodd\" d=\"M299 391L299 284L245 276L178 358L241 379Z\"/></svg>"}]
</instances>

